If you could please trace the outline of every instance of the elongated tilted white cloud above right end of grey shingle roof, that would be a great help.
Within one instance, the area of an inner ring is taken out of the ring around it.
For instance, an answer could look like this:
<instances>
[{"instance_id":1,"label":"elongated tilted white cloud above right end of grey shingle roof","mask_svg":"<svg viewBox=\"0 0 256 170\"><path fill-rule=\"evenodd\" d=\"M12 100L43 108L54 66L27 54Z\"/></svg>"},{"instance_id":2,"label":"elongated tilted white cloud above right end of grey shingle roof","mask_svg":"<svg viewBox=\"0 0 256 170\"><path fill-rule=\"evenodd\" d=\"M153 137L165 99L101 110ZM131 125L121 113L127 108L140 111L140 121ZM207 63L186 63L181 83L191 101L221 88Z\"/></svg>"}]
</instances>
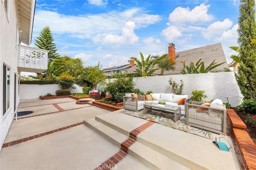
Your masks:
<instances>
[{"instance_id":1,"label":"elongated tilted white cloud above right end of grey shingle roof","mask_svg":"<svg viewBox=\"0 0 256 170\"><path fill-rule=\"evenodd\" d=\"M208 26L208 28L202 30L202 35L204 36L204 38L210 40L210 38L216 37L216 35L221 34L225 30L230 28L232 24L233 22L228 18L223 21L216 21Z\"/></svg>"}]
</instances>

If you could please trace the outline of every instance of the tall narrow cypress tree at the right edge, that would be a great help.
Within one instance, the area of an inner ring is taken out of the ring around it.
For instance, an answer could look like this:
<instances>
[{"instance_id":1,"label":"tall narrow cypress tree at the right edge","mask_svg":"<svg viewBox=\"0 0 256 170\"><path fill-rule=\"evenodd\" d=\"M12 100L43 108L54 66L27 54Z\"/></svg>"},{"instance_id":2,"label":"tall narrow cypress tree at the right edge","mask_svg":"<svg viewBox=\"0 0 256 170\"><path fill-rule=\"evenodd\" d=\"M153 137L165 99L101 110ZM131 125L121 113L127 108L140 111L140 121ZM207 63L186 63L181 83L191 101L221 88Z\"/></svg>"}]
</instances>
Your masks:
<instances>
[{"instance_id":1,"label":"tall narrow cypress tree at the right edge","mask_svg":"<svg viewBox=\"0 0 256 170\"><path fill-rule=\"evenodd\" d=\"M240 59L236 81L244 99L256 98L256 23L255 0L240 0L238 44Z\"/></svg>"}]
</instances>

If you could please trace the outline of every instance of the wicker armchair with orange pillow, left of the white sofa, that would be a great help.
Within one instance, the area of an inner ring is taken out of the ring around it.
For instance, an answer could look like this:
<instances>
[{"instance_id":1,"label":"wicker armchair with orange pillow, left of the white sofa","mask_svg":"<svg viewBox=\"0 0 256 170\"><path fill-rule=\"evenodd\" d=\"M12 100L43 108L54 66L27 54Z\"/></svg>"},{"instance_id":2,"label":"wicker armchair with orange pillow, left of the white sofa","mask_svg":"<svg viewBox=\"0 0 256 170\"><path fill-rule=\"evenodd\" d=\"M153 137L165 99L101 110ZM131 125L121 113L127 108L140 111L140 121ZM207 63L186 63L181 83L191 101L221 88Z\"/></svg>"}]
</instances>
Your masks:
<instances>
[{"instance_id":1,"label":"wicker armchair with orange pillow, left of the white sofa","mask_svg":"<svg viewBox=\"0 0 256 170\"><path fill-rule=\"evenodd\" d=\"M140 111L144 108L145 104L145 96L138 96L138 97L127 97L124 96L124 109L130 111Z\"/></svg>"}]
</instances>

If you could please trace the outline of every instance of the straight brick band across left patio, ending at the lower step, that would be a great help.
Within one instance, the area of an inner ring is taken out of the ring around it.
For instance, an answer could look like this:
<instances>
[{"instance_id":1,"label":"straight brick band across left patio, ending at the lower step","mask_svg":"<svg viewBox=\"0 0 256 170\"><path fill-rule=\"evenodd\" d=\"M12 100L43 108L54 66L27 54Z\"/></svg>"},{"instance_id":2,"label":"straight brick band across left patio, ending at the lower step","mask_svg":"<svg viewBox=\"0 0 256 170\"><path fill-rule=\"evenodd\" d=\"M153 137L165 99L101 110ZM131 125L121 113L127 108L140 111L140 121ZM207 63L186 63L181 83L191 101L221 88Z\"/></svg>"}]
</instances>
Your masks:
<instances>
[{"instance_id":1,"label":"straight brick band across left patio, ending at the lower step","mask_svg":"<svg viewBox=\"0 0 256 170\"><path fill-rule=\"evenodd\" d=\"M34 135L34 136L29 136L29 137L26 137L26 138L14 140L14 141L12 141L12 142L7 142L7 143L4 143L4 144L3 144L2 148L6 148L6 147L9 147L9 146L12 146L12 145L15 145L15 144L19 144L19 143L22 143L22 142L26 142L26 141L28 141L28 140L36 139L36 138L39 138L39 137L42 137L42 136L45 136L45 135L48 135L48 134L52 134L52 133L55 133L55 132L59 132L59 131L62 131L62 130L68 129L68 128L72 128L72 127L76 127L76 126L78 126L78 125L82 125L82 124L84 124L84 123L83 123L83 122L79 122L79 123L76 123L76 124L73 124L73 125L69 125L69 126L66 126L66 127L57 128L57 129L54 129L54 130L50 130L50 131L48 131L48 132L36 134L36 135Z\"/></svg>"}]
</instances>

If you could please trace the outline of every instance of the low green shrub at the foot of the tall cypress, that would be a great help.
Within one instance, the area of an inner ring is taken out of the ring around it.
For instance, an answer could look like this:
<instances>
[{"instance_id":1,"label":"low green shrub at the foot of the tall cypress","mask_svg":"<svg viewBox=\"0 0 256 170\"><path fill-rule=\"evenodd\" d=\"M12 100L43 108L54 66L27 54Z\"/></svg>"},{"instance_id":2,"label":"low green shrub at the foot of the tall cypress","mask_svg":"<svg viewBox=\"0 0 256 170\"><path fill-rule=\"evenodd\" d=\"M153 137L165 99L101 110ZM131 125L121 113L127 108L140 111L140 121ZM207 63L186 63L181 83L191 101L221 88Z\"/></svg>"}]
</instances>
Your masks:
<instances>
[{"instance_id":1,"label":"low green shrub at the foot of the tall cypress","mask_svg":"<svg viewBox=\"0 0 256 170\"><path fill-rule=\"evenodd\" d=\"M236 107L236 110L243 113L256 113L256 98L244 99L241 105Z\"/></svg>"}]
</instances>

